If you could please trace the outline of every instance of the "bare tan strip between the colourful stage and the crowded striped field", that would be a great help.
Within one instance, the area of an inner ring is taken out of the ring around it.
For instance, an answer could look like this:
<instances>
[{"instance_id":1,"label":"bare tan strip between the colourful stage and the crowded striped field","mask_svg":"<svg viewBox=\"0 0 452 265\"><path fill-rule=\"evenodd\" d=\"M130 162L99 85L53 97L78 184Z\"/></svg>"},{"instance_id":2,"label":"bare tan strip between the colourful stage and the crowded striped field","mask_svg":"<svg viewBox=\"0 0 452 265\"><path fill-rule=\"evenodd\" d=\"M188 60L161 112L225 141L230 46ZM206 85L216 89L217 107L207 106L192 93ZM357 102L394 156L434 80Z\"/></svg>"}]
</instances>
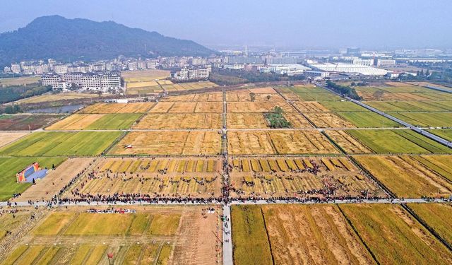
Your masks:
<instances>
[{"instance_id":1,"label":"bare tan strip between the colourful stage and the crowded striped field","mask_svg":"<svg viewBox=\"0 0 452 265\"><path fill-rule=\"evenodd\" d=\"M66 184L76 177L83 169L93 163L93 158L71 158L62 163L56 170L52 170L40 181L36 182L14 201L49 201L57 195Z\"/></svg>"}]
</instances>

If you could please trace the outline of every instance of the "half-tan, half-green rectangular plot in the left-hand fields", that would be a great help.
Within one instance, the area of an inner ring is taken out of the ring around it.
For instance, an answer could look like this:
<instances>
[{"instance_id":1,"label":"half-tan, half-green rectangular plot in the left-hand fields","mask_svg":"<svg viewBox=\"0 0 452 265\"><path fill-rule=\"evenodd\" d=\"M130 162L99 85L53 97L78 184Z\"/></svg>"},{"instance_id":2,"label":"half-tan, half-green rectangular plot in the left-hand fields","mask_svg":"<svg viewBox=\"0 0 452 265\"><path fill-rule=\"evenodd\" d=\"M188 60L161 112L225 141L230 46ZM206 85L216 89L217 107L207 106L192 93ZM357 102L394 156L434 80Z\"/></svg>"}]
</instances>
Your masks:
<instances>
[{"instance_id":1,"label":"half-tan, half-green rectangular plot in the left-hand fields","mask_svg":"<svg viewBox=\"0 0 452 265\"><path fill-rule=\"evenodd\" d=\"M107 130L129 129L141 114L116 113L116 114L72 114L61 120L47 130Z\"/></svg>"}]
</instances>

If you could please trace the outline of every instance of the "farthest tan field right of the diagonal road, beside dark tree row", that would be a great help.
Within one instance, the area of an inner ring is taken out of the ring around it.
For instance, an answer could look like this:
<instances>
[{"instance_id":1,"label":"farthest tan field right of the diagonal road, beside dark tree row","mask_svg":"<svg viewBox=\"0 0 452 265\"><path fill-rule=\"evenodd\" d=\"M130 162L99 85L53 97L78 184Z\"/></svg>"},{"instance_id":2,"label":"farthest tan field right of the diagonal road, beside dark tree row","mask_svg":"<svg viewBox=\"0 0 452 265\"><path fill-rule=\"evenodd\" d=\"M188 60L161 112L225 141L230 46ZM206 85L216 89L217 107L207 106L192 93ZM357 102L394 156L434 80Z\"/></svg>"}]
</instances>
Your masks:
<instances>
[{"instance_id":1,"label":"farthest tan field right of the diagonal road, beside dark tree row","mask_svg":"<svg viewBox=\"0 0 452 265\"><path fill-rule=\"evenodd\" d=\"M366 101L428 101L452 100L452 95L445 92L434 91L420 86L356 86L358 95Z\"/></svg>"}]
</instances>

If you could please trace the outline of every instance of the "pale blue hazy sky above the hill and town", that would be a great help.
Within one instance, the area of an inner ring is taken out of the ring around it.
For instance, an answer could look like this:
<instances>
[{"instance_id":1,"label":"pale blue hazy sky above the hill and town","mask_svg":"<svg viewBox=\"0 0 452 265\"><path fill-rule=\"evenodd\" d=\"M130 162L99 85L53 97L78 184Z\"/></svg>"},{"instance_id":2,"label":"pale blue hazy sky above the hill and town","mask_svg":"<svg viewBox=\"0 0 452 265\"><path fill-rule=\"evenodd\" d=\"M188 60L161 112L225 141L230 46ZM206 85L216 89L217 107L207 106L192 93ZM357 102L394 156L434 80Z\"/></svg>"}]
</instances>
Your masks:
<instances>
[{"instance_id":1,"label":"pale blue hazy sky above the hill and town","mask_svg":"<svg viewBox=\"0 0 452 265\"><path fill-rule=\"evenodd\" d=\"M208 46L452 47L451 0L1 0L0 8L0 32L61 15Z\"/></svg>"}]
</instances>

